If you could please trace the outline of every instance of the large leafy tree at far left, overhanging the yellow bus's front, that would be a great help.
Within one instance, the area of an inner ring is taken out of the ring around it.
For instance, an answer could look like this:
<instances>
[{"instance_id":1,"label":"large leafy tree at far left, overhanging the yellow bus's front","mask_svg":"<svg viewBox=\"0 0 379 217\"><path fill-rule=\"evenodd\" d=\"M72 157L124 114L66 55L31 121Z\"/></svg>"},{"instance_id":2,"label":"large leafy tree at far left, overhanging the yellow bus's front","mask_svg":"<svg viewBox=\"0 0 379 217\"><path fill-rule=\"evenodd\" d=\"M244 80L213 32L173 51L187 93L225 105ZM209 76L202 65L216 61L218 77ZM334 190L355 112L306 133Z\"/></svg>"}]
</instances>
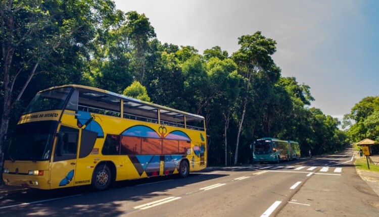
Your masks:
<instances>
[{"instance_id":1,"label":"large leafy tree at far left, overhanging the yellow bus's front","mask_svg":"<svg viewBox=\"0 0 379 217\"><path fill-rule=\"evenodd\" d=\"M0 139L5 138L12 109L33 76L42 72L39 66L54 65L54 57L65 47L88 43L97 28L114 19L114 12L111 0L1 1L0 67L4 95ZM2 145L3 142L0 166Z\"/></svg>"}]
</instances>

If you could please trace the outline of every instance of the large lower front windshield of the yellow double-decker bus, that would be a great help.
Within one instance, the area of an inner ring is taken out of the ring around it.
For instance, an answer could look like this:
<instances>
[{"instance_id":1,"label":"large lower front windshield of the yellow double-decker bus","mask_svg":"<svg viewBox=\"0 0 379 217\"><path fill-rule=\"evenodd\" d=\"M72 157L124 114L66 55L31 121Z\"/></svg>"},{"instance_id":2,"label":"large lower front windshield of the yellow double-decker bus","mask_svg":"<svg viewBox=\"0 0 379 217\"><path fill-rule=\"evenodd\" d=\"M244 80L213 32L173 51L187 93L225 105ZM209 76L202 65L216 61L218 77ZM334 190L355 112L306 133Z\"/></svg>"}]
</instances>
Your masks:
<instances>
[{"instance_id":1,"label":"large lower front windshield of the yellow double-decker bus","mask_svg":"<svg viewBox=\"0 0 379 217\"><path fill-rule=\"evenodd\" d=\"M48 160L53 147L56 121L31 122L17 125L8 138L7 160Z\"/></svg>"}]
</instances>

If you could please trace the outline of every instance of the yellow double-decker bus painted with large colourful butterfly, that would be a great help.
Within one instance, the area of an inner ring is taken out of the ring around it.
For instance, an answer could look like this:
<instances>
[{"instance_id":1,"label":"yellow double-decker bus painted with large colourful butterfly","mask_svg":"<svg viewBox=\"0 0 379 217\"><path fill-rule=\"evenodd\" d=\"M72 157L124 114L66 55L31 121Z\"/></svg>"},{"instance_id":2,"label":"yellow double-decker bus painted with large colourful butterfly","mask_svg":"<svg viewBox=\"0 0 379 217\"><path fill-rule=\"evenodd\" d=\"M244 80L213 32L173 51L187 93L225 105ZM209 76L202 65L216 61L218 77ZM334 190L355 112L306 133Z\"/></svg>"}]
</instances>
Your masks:
<instances>
[{"instance_id":1,"label":"yellow double-decker bus painted with large colourful butterfly","mask_svg":"<svg viewBox=\"0 0 379 217\"><path fill-rule=\"evenodd\" d=\"M81 85L38 92L8 138L6 185L103 190L207 166L204 117Z\"/></svg>"}]
</instances>

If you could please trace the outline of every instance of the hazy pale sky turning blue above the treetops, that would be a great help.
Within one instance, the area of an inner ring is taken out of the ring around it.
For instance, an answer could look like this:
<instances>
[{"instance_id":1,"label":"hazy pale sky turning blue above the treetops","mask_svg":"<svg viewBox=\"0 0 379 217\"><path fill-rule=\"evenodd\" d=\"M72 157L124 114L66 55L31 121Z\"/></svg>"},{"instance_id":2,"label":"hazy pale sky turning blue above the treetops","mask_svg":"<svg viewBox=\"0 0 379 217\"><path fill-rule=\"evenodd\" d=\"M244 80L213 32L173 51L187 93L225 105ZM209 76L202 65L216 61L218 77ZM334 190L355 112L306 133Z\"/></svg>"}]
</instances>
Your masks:
<instances>
[{"instance_id":1,"label":"hazy pale sky turning blue above the treetops","mask_svg":"<svg viewBox=\"0 0 379 217\"><path fill-rule=\"evenodd\" d=\"M379 95L379 1L116 0L145 14L162 43L229 55L238 38L261 31L277 42L283 77L310 86L311 106L342 120L367 96Z\"/></svg>"}]
</instances>

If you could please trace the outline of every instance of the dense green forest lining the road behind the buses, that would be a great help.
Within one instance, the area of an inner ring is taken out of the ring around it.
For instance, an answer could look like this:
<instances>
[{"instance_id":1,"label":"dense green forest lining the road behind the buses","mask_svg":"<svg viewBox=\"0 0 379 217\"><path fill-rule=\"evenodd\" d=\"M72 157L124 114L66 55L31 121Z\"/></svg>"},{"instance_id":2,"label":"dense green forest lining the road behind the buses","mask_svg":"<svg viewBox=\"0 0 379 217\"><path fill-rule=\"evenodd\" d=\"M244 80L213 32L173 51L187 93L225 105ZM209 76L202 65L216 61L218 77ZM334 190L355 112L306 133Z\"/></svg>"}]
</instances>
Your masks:
<instances>
[{"instance_id":1,"label":"dense green forest lining the road behind the buses","mask_svg":"<svg viewBox=\"0 0 379 217\"><path fill-rule=\"evenodd\" d=\"M240 48L231 54L219 46L201 54L161 43L148 17L119 11L111 0L1 0L0 7L2 141L37 91L64 84L204 116L209 165L252 162L250 144L261 137L298 141L303 155L348 141L338 119L311 107L308 85L281 76L272 59L276 41L260 31L236 38ZM349 117L377 138L370 126L379 120L378 99L366 101L376 103L369 120L361 121L360 106ZM361 138L350 119L344 126Z\"/></svg>"}]
</instances>

